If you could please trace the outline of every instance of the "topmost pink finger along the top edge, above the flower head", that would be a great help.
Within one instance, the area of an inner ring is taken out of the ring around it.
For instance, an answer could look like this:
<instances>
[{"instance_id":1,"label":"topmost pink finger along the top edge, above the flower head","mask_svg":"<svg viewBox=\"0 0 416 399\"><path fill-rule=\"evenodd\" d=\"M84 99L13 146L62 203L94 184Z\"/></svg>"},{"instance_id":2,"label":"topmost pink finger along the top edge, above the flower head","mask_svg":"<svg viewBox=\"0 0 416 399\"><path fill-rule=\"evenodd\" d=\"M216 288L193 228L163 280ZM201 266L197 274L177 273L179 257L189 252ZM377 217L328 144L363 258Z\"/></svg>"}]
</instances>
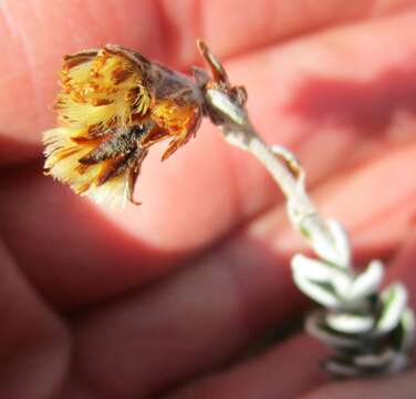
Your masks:
<instances>
[{"instance_id":1,"label":"topmost pink finger along the top edge, above the flower head","mask_svg":"<svg viewBox=\"0 0 416 399\"><path fill-rule=\"evenodd\" d=\"M220 55L226 55L325 24L383 14L413 3L410 0L354 0L341 7L339 2L325 0L311 7L308 1L299 0L288 7L284 1L264 0L241 14L236 13L241 4L237 0L227 2L227 7L220 1L174 4L147 0L139 3L76 0L59 1L54 7L45 0L2 1L0 136L6 145L0 147L1 160L18 161L39 154L40 133L54 119L48 108L56 91L53 76L60 69L62 54L115 42L177 66L196 59L197 37L204 35ZM243 34L246 31L251 34ZM14 151L9 151L9 145Z\"/></svg>"}]
</instances>

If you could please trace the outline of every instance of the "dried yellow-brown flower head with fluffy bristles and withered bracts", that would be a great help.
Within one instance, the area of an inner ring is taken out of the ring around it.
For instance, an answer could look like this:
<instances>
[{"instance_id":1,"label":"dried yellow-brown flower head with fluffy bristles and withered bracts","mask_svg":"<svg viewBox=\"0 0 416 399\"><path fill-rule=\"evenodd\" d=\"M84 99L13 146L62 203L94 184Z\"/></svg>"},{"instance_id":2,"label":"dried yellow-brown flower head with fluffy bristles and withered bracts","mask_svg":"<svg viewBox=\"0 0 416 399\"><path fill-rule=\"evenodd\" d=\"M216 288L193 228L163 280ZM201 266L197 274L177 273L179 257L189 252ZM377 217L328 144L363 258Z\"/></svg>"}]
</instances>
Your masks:
<instances>
[{"instance_id":1,"label":"dried yellow-brown flower head with fluffy bristles and withered bracts","mask_svg":"<svg viewBox=\"0 0 416 399\"><path fill-rule=\"evenodd\" d=\"M46 174L97 203L134 203L148 149L170 139L166 160L200 124L209 79L198 69L195 78L118 45L64 57L60 126L43 134Z\"/></svg>"}]
</instances>

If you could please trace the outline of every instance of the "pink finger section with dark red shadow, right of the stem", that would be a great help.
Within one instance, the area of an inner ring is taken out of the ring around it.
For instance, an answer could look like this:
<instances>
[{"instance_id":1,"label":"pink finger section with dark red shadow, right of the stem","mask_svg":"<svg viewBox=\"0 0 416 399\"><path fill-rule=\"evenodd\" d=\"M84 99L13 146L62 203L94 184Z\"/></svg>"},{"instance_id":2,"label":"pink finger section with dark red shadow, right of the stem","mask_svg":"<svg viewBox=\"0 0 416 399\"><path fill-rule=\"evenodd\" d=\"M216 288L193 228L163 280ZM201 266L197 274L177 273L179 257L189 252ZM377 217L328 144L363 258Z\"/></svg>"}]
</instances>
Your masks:
<instances>
[{"instance_id":1,"label":"pink finger section with dark red shadow, right of the stem","mask_svg":"<svg viewBox=\"0 0 416 399\"><path fill-rule=\"evenodd\" d=\"M248 88L257 129L294 151L312 168L312 183L415 141L416 61L408 41L415 16L356 23L231 65L232 80ZM374 35L385 38L388 51Z\"/></svg>"}]
</instances>

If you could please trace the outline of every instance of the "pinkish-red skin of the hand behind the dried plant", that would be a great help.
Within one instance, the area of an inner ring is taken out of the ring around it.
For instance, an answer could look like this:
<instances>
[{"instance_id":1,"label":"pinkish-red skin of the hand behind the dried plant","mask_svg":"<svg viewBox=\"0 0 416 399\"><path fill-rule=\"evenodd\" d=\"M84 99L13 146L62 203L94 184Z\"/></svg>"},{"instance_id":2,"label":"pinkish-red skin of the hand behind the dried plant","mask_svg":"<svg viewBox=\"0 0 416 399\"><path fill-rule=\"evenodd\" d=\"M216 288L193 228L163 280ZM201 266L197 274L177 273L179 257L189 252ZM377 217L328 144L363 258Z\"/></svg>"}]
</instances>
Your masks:
<instances>
[{"instance_id":1,"label":"pinkish-red skin of the hand behind the dried plant","mask_svg":"<svg viewBox=\"0 0 416 399\"><path fill-rule=\"evenodd\" d=\"M204 37L261 134L298 154L320 209L345 224L356 263L385 259L412 298L416 1L53 4L0 2L0 397L410 397L413 370L327 380L326 349L301 331L240 356L311 304L291 282L304 244L279 190L215 126L162 165L153 150L143 205L124 213L44 177L40 137L62 54L112 42L187 70Z\"/></svg>"}]
</instances>

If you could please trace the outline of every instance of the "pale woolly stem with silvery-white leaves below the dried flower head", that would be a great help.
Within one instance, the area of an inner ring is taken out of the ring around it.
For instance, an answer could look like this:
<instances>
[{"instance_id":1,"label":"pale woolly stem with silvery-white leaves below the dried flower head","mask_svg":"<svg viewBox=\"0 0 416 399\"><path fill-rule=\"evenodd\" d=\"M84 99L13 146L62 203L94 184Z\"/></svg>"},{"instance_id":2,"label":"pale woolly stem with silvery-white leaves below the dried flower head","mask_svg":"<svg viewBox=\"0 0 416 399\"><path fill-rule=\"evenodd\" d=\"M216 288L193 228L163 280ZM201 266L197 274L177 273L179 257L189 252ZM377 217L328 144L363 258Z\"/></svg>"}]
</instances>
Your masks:
<instances>
[{"instance_id":1,"label":"pale woolly stem with silvery-white leaves below the dried flower head","mask_svg":"<svg viewBox=\"0 0 416 399\"><path fill-rule=\"evenodd\" d=\"M246 91L231 86L220 62L202 42L198 45L216 76L201 78L207 114L229 143L264 165L287 198L291 223L318 255L294 255L291 266L298 287L324 307L306 320L306 330L336 351L323 367L337 377L405 369L415 332L405 287L396 283L379 293L384 267L378 260L362 273L353 270L349 236L340 223L316 212L301 164L289 150L271 147L257 134L245 109Z\"/></svg>"}]
</instances>

